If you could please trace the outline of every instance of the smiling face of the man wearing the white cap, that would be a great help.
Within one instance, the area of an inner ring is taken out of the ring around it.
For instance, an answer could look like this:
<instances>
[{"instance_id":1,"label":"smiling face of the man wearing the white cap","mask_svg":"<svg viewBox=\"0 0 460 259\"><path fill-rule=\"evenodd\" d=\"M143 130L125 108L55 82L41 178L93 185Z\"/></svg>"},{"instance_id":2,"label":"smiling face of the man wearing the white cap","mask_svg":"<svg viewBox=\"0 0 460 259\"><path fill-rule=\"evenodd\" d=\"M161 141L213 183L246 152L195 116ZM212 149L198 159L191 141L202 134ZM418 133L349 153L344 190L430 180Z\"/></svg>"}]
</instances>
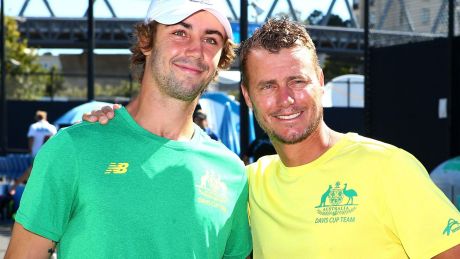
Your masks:
<instances>
[{"instance_id":1,"label":"smiling face of the man wearing the white cap","mask_svg":"<svg viewBox=\"0 0 460 259\"><path fill-rule=\"evenodd\" d=\"M153 50L144 52L144 76L165 95L193 101L216 75L225 35L222 24L206 11L177 24L159 24Z\"/></svg>"}]
</instances>

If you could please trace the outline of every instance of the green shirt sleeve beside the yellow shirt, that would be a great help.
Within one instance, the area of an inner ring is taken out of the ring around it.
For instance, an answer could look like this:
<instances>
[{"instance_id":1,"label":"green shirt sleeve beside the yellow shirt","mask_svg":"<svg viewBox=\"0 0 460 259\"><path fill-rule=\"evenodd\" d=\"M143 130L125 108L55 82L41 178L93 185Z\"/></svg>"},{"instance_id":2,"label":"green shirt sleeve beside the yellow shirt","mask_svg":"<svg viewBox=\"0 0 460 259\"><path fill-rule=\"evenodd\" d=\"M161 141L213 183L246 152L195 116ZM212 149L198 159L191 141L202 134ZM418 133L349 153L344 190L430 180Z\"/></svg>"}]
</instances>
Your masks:
<instances>
[{"instance_id":1,"label":"green shirt sleeve beside the yellow shirt","mask_svg":"<svg viewBox=\"0 0 460 259\"><path fill-rule=\"evenodd\" d=\"M246 177L246 175L244 175ZM223 258L246 258L252 250L252 237L248 222L248 185L245 185L233 210L232 232Z\"/></svg>"}]
</instances>

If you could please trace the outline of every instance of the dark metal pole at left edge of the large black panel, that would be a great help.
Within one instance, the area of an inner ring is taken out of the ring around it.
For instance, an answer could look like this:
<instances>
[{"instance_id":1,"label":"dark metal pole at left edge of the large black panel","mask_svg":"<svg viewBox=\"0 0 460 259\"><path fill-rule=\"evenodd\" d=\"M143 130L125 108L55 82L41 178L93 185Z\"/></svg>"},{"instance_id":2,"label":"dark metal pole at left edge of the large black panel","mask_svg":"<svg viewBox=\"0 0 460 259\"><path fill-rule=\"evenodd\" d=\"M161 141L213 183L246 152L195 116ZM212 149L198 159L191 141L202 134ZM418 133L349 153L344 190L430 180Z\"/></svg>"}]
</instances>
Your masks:
<instances>
[{"instance_id":1,"label":"dark metal pole at left edge of the large black panel","mask_svg":"<svg viewBox=\"0 0 460 259\"><path fill-rule=\"evenodd\" d=\"M372 136L372 109L370 85L370 51L369 51L369 0L364 0L364 131Z\"/></svg>"}]
</instances>

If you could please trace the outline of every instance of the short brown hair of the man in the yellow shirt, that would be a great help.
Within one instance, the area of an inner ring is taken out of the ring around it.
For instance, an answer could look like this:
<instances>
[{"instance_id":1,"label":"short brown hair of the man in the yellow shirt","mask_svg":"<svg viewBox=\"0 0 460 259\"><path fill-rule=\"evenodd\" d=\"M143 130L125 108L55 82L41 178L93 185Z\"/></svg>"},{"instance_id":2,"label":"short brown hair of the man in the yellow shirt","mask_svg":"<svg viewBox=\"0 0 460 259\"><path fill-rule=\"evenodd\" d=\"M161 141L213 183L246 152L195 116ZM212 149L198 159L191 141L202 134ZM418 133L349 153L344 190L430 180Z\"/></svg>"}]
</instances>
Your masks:
<instances>
[{"instance_id":1,"label":"short brown hair of the man in the yellow shirt","mask_svg":"<svg viewBox=\"0 0 460 259\"><path fill-rule=\"evenodd\" d=\"M241 43L238 48L242 81L248 87L248 55L253 49L265 49L271 53L278 53L281 49L289 49L295 46L303 46L312 52L313 64L316 64L316 71L319 70L318 56L315 44L308 34L305 26L289 21L287 18L273 18L268 20L254 34Z\"/></svg>"}]
</instances>

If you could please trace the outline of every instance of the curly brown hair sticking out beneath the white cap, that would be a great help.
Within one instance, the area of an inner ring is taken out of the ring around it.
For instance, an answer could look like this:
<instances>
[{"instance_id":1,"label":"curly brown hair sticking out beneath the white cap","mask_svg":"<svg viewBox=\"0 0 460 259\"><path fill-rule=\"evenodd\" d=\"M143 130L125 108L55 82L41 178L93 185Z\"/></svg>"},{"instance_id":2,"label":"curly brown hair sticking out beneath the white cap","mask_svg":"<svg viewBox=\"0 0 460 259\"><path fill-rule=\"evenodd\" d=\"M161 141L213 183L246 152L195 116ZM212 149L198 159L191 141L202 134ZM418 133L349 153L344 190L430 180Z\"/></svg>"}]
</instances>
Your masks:
<instances>
[{"instance_id":1,"label":"curly brown hair sticking out beneath the white cap","mask_svg":"<svg viewBox=\"0 0 460 259\"><path fill-rule=\"evenodd\" d=\"M132 53L130 58L130 68L133 73L133 77L139 82L142 81L145 70L145 55L142 50L150 50L154 47L154 38L156 35L157 27L159 23L152 21L149 24L137 23L134 25L134 43L130 48ZM222 49L222 54L217 65L218 70L228 69L235 59L235 48L236 45L230 40L225 41ZM217 76L217 73L216 73Z\"/></svg>"}]
</instances>

